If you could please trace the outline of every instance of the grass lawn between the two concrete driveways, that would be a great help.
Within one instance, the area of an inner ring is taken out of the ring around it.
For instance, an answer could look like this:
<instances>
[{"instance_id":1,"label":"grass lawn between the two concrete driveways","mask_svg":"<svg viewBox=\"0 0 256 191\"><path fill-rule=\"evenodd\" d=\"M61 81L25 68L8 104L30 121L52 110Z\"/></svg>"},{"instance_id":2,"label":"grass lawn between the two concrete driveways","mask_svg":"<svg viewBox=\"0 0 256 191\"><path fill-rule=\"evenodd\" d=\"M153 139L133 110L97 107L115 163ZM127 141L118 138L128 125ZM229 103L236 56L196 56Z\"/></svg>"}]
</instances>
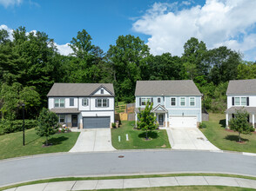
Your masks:
<instances>
[{"instance_id":1,"label":"grass lawn between the two concrete driveways","mask_svg":"<svg viewBox=\"0 0 256 191\"><path fill-rule=\"evenodd\" d=\"M145 141L145 131L133 129L134 122L123 121L119 128L111 129L112 145L117 149L137 149L137 148L171 148L165 130L154 130L148 135L152 138ZM126 141L128 134L129 141ZM120 135L121 141L118 142Z\"/></svg>"}]
</instances>

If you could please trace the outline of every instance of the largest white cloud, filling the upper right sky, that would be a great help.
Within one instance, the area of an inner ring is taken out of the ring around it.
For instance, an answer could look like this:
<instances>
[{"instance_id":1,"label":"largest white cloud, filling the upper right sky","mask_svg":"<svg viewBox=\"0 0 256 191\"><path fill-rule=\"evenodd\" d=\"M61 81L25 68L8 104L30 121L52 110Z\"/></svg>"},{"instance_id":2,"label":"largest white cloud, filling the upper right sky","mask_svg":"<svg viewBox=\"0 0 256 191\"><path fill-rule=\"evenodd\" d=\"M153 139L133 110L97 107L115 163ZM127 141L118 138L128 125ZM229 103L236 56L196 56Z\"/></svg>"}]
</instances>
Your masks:
<instances>
[{"instance_id":1,"label":"largest white cloud, filling the upper right sky","mask_svg":"<svg viewBox=\"0 0 256 191\"><path fill-rule=\"evenodd\" d=\"M147 44L154 55L171 52L181 56L192 36L205 42L208 49L219 45L245 52L256 49L256 1L206 0L203 6L169 8L167 3L154 3L133 23L133 30L151 36Z\"/></svg>"}]
</instances>

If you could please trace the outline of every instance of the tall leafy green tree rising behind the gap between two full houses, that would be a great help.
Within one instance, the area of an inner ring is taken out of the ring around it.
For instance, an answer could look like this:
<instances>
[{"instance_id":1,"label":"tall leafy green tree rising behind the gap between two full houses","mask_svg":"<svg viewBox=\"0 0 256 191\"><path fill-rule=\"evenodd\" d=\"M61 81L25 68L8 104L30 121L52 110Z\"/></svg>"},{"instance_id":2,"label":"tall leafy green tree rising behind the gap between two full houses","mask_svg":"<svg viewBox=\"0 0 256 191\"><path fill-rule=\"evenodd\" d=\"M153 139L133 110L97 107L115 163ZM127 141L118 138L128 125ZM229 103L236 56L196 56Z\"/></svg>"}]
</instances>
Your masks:
<instances>
[{"instance_id":1,"label":"tall leafy green tree rising behind the gap between two full houses","mask_svg":"<svg viewBox=\"0 0 256 191\"><path fill-rule=\"evenodd\" d=\"M107 52L107 62L113 74L112 82L118 100L134 101L136 82L142 79L143 70L147 67L148 46L139 37L118 36L116 45L111 45ZM114 71L114 72L113 72Z\"/></svg>"}]
</instances>

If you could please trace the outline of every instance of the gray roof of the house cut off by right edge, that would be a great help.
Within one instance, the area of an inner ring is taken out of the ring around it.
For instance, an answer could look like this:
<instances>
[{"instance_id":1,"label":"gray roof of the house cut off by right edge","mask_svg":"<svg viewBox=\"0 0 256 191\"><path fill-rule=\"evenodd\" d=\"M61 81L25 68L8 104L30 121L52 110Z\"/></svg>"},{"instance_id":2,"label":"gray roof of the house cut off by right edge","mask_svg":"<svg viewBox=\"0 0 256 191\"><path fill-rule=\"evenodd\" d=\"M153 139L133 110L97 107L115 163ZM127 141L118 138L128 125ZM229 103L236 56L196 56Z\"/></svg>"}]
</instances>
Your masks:
<instances>
[{"instance_id":1,"label":"gray roof of the house cut off by right edge","mask_svg":"<svg viewBox=\"0 0 256 191\"><path fill-rule=\"evenodd\" d=\"M229 81L226 95L256 95L256 79Z\"/></svg>"}]
</instances>

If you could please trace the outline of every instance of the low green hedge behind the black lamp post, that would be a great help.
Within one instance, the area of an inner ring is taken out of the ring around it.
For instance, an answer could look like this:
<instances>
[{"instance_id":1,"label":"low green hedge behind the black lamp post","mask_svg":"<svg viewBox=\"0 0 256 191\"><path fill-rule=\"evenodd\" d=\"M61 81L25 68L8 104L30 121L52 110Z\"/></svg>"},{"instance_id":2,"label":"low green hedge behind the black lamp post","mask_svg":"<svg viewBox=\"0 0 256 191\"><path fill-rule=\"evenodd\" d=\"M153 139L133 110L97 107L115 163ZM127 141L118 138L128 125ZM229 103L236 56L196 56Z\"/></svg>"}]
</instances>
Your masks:
<instances>
[{"instance_id":1,"label":"low green hedge behind the black lamp post","mask_svg":"<svg viewBox=\"0 0 256 191\"><path fill-rule=\"evenodd\" d=\"M25 125L25 129L35 128L37 127L37 120L1 120L0 121L0 135L10 134L17 131L23 130L23 124Z\"/></svg>"}]
</instances>

